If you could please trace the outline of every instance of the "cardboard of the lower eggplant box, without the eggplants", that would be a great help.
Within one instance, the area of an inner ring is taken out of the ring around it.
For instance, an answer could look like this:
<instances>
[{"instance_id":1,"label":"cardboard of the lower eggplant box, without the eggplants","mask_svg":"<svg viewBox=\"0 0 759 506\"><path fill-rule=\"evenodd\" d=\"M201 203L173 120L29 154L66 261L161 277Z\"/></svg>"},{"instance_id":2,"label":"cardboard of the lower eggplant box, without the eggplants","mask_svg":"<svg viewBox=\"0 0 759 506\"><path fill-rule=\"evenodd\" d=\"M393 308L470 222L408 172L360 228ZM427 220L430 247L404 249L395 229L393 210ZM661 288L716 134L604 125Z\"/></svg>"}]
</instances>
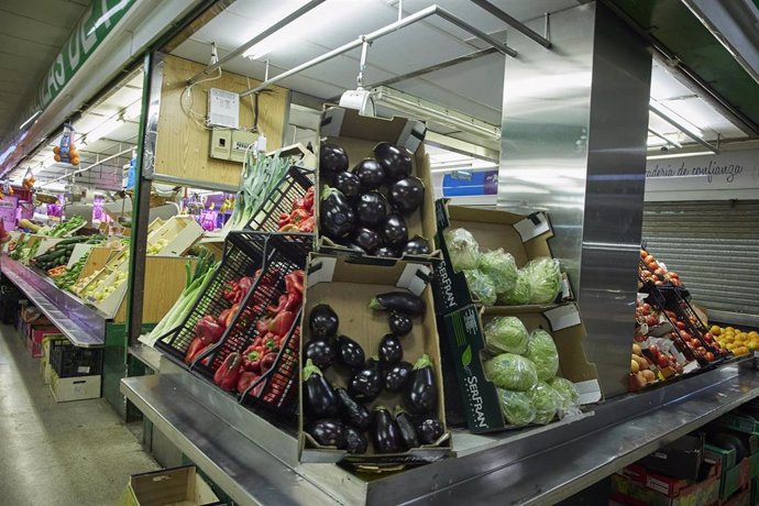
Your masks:
<instances>
[{"instance_id":1,"label":"cardboard of the lower eggplant box, without the eggplants","mask_svg":"<svg viewBox=\"0 0 759 506\"><path fill-rule=\"evenodd\" d=\"M419 295L425 304L424 316L414 318L411 333L402 338L404 350L403 360L414 364L421 355L427 354L435 370L438 407L437 417L446 427L446 403L443 399L443 383L440 366L440 350L438 348L438 330L432 308L431 286L429 275L431 268L427 264L411 263L387 258L382 265L365 264L359 260L345 256L332 256L312 253L309 258L306 279L306 297L304 300L304 332L301 343L310 340L307 324L308 315L317 304L328 304L340 318L338 333L349 336L364 349L366 358L376 355L380 342L388 333L387 311L369 308L372 297L395 290L407 289ZM302 358L302 353L300 354ZM302 367L302 363L301 363ZM349 374L332 366L324 371L324 376L337 386L346 386ZM301 388L302 391L302 388ZM300 392L302 398L302 392ZM301 462L338 462L345 459L356 466L380 470L384 466L398 468L399 464L432 462L450 453L450 435L448 430L435 444L424 446L405 453L373 454L372 442L365 455L349 455L343 450L320 447L310 435L304 431L302 403L300 405L300 461ZM403 405L403 394L384 392L366 407L371 410L376 405L394 409Z\"/></svg>"}]
</instances>

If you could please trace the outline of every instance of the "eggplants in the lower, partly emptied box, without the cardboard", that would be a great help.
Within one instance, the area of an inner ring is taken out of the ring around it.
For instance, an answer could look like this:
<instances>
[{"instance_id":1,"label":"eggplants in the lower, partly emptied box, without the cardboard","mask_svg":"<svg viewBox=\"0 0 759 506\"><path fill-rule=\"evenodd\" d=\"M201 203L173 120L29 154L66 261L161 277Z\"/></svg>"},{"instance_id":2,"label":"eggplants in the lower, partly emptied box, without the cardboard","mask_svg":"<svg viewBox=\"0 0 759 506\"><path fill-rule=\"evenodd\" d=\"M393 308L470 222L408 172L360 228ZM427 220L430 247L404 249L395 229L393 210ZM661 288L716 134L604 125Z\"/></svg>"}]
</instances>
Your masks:
<instances>
[{"instance_id":1,"label":"eggplants in the lower, partly emptied box, without the cardboard","mask_svg":"<svg viewBox=\"0 0 759 506\"><path fill-rule=\"evenodd\" d=\"M352 454L366 453L370 440L377 454L433 444L443 426L437 417L432 363L426 354L414 365L404 361L402 345L410 339L414 317L424 315L424 301L410 293L391 292L374 297L370 307L388 311L391 331L369 360L356 341L339 333L340 319L330 306L311 309L301 375L304 427L320 446ZM345 380L345 388L324 376L329 367ZM402 405L371 407L383 392L400 394Z\"/></svg>"}]
</instances>

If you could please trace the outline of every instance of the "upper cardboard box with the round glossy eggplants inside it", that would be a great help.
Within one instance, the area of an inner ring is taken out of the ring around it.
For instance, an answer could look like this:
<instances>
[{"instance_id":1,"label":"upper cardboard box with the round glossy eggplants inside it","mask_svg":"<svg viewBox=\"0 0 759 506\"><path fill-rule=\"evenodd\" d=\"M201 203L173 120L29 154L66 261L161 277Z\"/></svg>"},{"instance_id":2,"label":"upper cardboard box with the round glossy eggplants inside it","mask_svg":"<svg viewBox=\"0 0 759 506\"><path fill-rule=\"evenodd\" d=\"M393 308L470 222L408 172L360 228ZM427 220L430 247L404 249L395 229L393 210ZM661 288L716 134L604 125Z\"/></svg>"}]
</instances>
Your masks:
<instances>
[{"instance_id":1,"label":"upper cardboard box with the round glossy eggplants inside it","mask_svg":"<svg viewBox=\"0 0 759 506\"><path fill-rule=\"evenodd\" d=\"M324 110L318 132L318 251L439 258L426 133L424 122L408 118Z\"/></svg>"}]
</instances>

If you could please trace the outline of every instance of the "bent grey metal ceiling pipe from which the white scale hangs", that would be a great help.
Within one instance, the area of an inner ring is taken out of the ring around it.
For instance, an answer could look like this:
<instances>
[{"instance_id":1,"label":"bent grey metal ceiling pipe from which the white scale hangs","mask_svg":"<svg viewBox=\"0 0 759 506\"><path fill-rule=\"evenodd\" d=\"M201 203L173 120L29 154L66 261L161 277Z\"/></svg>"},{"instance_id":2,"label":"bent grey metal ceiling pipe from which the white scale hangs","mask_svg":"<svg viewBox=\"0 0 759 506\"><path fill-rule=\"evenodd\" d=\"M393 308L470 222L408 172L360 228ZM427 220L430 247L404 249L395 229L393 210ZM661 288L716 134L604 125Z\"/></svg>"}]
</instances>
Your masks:
<instances>
[{"instance_id":1,"label":"bent grey metal ceiling pipe from which the white scale hangs","mask_svg":"<svg viewBox=\"0 0 759 506\"><path fill-rule=\"evenodd\" d=\"M424 19L427 19L431 15L438 15L438 16L444 19L446 21L449 21L450 23L459 26L460 29L465 30L466 32L471 33L472 35L476 36L477 38L488 43L496 51L498 51L499 53L502 53L504 55L508 55L512 57L517 56L516 51L514 51L513 48L508 47L507 45L502 44L501 42L496 41L495 38L493 38L487 33L472 26L471 24L466 23L465 21L461 20L460 18L457 18L455 15L451 14L449 11L442 9L439 6L430 6L427 9L422 9L418 12L415 12L414 14L410 14L406 18L403 18L403 19L400 19L394 23L391 23L386 26L383 26L380 30L375 30L374 32L372 32L367 35L362 35L359 38L356 38L355 41L349 42L348 44L344 44L344 45L337 47L337 48L334 48L328 53L324 53L321 56L317 56L314 59L310 59L304 64L298 65L295 68L292 68L287 72L279 74L278 76L275 76L271 79L266 79L264 82L256 86L255 88L251 88L246 91L243 91L242 94L240 94L240 97L246 97L251 94L258 92L258 91L267 88L268 86L274 85L275 82L279 82L280 80L283 80L287 77L290 77L295 74L299 74L299 73L301 73L308 68L311 68L311 67L319 65L323 62L332 59L336 56L340 56L343 53L348 53L351 50L360 47L365 42L372 42L374 40L377 40L380 37L387 35L387 34L391 34L391 33L393 33L399 29L403 29L403 28L408 26L410 24L417 23L417 22L419 22Z\"/></svg>"}]
</instances>

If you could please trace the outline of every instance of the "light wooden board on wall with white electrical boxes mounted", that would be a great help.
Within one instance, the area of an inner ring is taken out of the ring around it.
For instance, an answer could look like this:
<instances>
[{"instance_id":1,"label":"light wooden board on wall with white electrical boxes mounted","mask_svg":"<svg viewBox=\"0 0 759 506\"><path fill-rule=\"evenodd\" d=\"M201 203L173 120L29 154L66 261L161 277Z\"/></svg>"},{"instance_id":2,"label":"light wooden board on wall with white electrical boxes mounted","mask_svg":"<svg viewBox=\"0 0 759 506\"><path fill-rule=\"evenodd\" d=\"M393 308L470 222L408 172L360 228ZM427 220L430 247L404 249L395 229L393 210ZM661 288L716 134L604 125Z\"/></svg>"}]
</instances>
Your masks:
<instances>
[{"instance_id":1,"label":"light wooden board on wall with white electrical boxes mounted","mask_svg":"<svg viewBox=\"0 0 759 506\"><path fill-rule=\"evenodd\" d=\"M164 62L158 134L155 148L155 172L183 179L212 182L239 186L242 164L209 157L211 132L197 125L187 116L190 99L185 92L185 110L182 95L187 79L205 68L189 59L167 55ZM213 77L213 76L211 76ZM239 74L223 72L221 78L200 82L193 87L193 110L205 116L208 111L208 89L219 88L242 92L261 81ZM253 125L251 98L240 99L240 124ZM258 97L258 130L267 140L267 148L282 147L287 108L287 89L272 87L272 92Z\"/></svg>"}]
</instances>

